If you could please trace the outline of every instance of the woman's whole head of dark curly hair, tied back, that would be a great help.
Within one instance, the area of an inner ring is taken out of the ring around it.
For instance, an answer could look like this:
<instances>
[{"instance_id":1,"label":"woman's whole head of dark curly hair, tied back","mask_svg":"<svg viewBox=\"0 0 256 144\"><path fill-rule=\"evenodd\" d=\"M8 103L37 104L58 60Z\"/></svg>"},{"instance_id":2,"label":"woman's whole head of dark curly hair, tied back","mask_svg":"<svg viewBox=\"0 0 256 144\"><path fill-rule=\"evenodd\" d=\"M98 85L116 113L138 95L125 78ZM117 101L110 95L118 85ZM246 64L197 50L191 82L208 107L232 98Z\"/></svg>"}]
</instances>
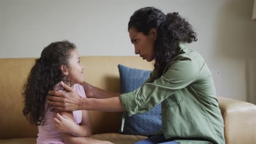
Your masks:
<instances>
[{"instance_id":1,"label":"woman's whole head of dark curly hair, tied back","mask_svg":"<svg viewBox=\"0 0 256 144\"><path fill-rule=\"evenodd\" d=\"M189 22L178 13L165 15L154 7L145 7L135 11L130 17L128 31L149 35L152 28L158 30L154 46L154 68L162 75L167 64L178 55L179 44L197 41L196 33Z\"/></svg>"}]
</instances>

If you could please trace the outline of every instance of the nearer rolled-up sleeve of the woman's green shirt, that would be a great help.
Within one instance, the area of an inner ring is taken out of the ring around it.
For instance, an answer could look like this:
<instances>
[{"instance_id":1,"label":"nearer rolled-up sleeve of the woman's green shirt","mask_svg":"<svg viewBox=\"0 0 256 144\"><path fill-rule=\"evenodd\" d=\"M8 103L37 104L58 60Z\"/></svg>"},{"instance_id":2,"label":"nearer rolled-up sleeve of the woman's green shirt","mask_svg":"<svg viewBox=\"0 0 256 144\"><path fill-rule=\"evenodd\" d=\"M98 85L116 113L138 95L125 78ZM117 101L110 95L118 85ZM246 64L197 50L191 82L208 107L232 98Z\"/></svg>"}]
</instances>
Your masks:
<instances>
[{"instance_id":1,"label":"nearer rolled-up sleeve of the woman's green shirt","mask_svg":"<svg viewBox=\"0 0 256 144\"><path fill-rule=\"evenodd\" d=\"M201 66L202 67L202 66ZM191 59L185 61L173 61L167 66L164 75L154 81L150 78L143 83L142 87L130 93L121 95L121 103L128 115L144 113L153 109L173 93L187 87L199 77L200 64Z\"/></svg>"}]
</instances>

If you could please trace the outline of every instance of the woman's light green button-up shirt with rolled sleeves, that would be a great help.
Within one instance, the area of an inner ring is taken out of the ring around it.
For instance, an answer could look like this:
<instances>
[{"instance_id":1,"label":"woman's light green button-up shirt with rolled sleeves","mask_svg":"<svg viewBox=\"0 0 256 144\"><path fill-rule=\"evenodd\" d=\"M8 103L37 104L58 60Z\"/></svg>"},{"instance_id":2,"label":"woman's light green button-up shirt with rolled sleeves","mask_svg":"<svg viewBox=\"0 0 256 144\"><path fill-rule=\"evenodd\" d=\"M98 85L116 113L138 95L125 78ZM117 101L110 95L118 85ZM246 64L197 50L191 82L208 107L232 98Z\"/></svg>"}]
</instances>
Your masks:
<instances>
[{"instance_id":1,"label":"woman's light green button-up shirt with rolled sleeves","mask_svg":"<svg viewBox=\"0 0 256 144\"><path fill-rule=\"evenodd\" d=\"M161 103L159 134L166 139L179 143L225 143L211 71L199 53L184 46L161 77L153 70L142 87L121 95L121 103L129 116L147 112Z\"/></svg>"}]
</instances>

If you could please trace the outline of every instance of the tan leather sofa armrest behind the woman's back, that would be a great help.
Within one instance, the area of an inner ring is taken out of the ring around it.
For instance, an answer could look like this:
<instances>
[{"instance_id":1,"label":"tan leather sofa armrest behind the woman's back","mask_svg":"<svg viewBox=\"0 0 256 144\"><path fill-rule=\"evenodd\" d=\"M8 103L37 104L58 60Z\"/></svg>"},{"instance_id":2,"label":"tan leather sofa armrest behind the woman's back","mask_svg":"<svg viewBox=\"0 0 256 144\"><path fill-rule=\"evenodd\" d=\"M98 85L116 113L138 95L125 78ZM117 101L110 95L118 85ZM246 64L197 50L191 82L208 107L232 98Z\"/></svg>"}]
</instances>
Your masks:
<instances>
[{"instance_id":1,"label":"tan leather sofa armrest behind the woman's back","mask_svg":"<svg viewBox=\"0 0 256 144\"><path fill-rule=\"evenodd\" d=\"M218 99L226 143L256 143L256 106L240 100Z\"/></svg>"}]
</instances>

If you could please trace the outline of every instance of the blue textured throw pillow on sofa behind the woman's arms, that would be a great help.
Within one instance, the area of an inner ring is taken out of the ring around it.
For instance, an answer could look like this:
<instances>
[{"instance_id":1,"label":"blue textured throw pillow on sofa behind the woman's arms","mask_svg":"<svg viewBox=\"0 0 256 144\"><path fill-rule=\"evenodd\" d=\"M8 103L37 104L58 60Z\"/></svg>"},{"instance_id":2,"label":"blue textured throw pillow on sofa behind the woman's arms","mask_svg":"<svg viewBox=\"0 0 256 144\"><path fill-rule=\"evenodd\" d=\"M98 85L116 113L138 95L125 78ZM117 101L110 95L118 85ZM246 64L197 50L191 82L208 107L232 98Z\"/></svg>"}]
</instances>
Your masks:
<instances>
[{"instance_id":1,"label":"blue textured throw pillow on sofa behind the woman's arms","mask_svg":"<svg viewBox=\"0 0 256 144\"><path fill-rule=\"evenodd\" d=\"M118 65L121 93L129 93L142 86L148 79L150 70L141 70ZM121 134L144 135L154 134L161 129L161 104L146 113L137 113L125 118Z\"/></svg>"}]
</instances>

